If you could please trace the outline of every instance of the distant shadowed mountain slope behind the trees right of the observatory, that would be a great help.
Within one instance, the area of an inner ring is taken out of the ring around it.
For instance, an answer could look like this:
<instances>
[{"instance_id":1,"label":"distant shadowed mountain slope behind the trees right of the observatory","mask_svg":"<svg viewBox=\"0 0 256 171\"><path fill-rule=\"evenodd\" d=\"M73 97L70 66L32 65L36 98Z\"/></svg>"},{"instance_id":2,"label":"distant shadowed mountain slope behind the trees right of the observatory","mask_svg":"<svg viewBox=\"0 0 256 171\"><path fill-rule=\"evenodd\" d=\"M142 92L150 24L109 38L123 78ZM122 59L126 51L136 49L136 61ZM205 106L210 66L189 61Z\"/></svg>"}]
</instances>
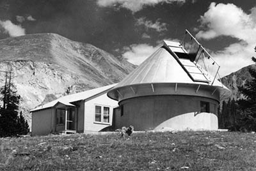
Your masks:
<instances>
[{"instance_id":1,"label":"distant shadowed mountain slope behind the trees right of the observatory","mask_svg":"<svg viewBox=\"0 0 256 171\"><path fill-rule=\"evenodd\" d=\"M243 97L243 95L239 93L238 87L243 86L246 81L252 80L252 76L249 73L250 69L256 70L256 65L252 64L246 66L244 68L241 68L241 70L230 73L230 75L221 78L221 82L232 91L230 98L234 98L235 100L237 100Z\"/></svg>"}]
</instances>

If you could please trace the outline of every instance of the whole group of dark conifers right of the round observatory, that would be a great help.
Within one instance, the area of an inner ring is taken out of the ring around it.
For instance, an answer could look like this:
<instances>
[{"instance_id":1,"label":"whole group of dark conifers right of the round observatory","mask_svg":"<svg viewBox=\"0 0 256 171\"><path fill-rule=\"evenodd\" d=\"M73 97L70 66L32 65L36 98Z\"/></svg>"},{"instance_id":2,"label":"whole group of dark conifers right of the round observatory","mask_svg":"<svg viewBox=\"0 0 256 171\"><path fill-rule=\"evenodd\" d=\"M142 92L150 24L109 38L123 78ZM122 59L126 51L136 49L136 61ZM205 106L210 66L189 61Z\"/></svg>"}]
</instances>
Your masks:
<instances>
[{"instance_id":1,"label":"whole group of dark conifers right of the round observatory","mask_svg":"<svg viewBox=\"0 0 256 171\"><path fill-rule=\"evenodd\" d=\"M256 52L256 47L255 47ZM252 57L256 63L256 58ZM256 70L249 69L252 80L238 87L244 98L223 101L219 108L219 128L230 131L256 131Z\"/></svg>"}]
</instances>

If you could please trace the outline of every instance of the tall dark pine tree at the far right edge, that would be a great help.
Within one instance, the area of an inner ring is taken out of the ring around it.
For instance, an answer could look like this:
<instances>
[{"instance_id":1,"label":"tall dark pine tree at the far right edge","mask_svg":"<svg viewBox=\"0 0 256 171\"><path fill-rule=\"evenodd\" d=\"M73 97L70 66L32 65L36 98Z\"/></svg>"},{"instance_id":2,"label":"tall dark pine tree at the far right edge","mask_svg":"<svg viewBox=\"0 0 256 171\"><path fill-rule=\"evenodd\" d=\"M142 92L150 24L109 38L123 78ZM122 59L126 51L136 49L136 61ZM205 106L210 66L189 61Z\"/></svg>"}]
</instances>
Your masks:
<instances>
[{"instance_id":1,"label":"tall dark pine tree at the far right edge","mask_svg":"<svg viewBox=\"0 0 256 171\"><path fill-rule=\"evenodd\" d=\"M252 61L256 63L256 58L252 57ZM252 75L252 80L246 82L243 87L239 87L239 91L244 96L238 101L241 109L240 124L248 131L256 131L256 70L250 68L249 72Z\"/></svg>"}]
</instances>

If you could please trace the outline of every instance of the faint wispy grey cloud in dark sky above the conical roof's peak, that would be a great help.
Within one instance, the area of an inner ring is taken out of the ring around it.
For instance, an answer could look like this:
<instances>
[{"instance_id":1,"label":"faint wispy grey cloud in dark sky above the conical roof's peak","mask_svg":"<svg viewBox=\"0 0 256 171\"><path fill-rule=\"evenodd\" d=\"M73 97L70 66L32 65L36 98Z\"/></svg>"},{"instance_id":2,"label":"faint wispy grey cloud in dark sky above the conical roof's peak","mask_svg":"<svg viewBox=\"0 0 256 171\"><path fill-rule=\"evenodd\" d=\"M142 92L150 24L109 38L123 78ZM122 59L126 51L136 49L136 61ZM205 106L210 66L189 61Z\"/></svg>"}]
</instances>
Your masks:
<instances>
[{"instance_id":1,"label":"faint wispy grey cloud in dark sky above the conical roof's peak","mask_svg":"<svg viewBox=\"0 0 256 171\"><path fill-rule=\"evenodd\" d=\"M154 29L157 32L161 31L167 31L167 24L159 22L159 19L156 20L156 22L152 22L150 20L146 20L145 17L141 17L140 19L137 19L136 21L137 26L144 26L145 29L148 31L148 29Z\"/></svg>"}]
</instances>

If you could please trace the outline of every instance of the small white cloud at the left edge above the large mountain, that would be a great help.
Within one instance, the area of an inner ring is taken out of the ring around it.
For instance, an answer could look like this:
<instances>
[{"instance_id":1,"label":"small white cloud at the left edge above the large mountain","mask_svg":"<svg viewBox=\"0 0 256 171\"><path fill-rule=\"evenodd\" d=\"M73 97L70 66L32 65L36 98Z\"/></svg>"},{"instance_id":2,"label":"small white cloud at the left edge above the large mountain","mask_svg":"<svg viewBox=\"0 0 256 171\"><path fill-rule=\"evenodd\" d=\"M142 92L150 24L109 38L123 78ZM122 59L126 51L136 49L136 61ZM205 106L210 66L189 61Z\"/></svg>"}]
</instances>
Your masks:
<instances>
[{"instance_id":1,"label":"small white cloud at the left edge above the large mountain","mask_svg":"<svg viewBox=\"0 0 256 171\"><path fill-rule=\"evenodd\" d=\"M10 20L0 20L0 26L3 27L4 33L8 33L11 37L25 35L25 29L19 25L13 24Z\"/></svg>"}]
</instances>

